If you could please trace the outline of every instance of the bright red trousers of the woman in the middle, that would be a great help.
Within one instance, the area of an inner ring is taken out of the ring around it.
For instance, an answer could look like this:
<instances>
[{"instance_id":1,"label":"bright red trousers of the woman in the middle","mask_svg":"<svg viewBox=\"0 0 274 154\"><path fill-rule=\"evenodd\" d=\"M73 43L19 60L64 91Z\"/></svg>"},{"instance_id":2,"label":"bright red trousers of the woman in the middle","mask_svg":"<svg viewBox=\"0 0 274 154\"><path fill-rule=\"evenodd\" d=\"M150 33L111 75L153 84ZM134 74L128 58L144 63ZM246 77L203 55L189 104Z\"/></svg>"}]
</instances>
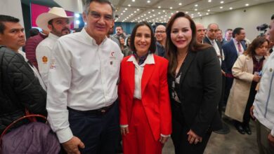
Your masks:
<instances>
[{"instance_id":1,"label":"bright red trousers of the woman in the middle","mask_svg":"<svg viewBox=\"0 0 274 154\"><path fill-rule=\"evenodd\" d=\"M124 154L160 154L163 144L155 141L141 100L134 99L129 134L123 135Z\"/></svg>"}]
</instances>

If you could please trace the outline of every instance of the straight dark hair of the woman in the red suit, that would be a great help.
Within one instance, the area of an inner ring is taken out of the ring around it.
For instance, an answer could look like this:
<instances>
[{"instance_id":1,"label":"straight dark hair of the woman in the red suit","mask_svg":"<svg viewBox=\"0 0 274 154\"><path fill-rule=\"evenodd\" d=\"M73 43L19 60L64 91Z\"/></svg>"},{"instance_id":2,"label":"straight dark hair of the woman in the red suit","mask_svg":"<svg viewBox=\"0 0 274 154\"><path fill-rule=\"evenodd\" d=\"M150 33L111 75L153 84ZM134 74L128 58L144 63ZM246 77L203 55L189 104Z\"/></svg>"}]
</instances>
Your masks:
<instances>
[{"instance_id":1,"label":"straight dark hair of the woman in the red suit","mask_svg":"<svg viewBox=\"0 0 274 154\"><path fill-rule=\"evenodd\" d=\"M139 22L133 28L132 34L131 34L131 43L130 43L131 44L130 45L131 50L133 52L136 52L134 41L135 41L136 31L137 31L138 27L141 27L141 26L146 26L146 27L150 28L150 36L151 36L151 40L150 41L151 41L151 43L150 43L150 48L148 50L150 50L150 53L154 53L155 50L156 50L156 42L155 42L155 37L154 37L154 34L153 34L152 27L150 26L150 24L148 22Z\"/></svg>"}]
</instances>

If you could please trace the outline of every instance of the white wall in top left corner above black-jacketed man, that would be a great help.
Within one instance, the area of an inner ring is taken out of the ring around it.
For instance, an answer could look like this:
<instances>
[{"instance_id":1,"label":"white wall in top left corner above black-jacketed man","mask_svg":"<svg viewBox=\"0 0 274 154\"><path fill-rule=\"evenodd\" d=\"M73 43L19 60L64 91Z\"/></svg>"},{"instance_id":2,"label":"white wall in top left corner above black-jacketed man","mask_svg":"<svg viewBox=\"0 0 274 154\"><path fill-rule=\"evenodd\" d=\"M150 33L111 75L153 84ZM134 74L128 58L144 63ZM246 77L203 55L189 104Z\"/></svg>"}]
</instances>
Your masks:
<instances>
[{"instance_id":1,"label":"white wall in top left corner above black-jacketed man","mask_svg":"<svg viewBox=\"0 0 274 154\"><path fill-rule=\"evenodd\" d=\"M0 14L11 15L20 19L20 24L24 27L22 18L22 6L20 0L0 0Z\"/></svg>"}]
</instances>

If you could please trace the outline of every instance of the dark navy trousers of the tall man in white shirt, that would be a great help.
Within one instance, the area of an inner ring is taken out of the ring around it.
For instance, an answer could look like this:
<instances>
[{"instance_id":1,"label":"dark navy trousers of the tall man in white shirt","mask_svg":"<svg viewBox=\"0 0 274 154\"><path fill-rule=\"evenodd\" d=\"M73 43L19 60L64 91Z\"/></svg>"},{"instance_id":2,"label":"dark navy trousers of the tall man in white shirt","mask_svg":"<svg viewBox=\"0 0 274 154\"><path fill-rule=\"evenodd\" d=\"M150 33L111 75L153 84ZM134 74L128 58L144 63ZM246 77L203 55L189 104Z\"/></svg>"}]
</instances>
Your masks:
<instances>
[{"instance_id":1,"label":"dark navy trousers of the tall man in white shirt","mask_svg":"<svg viewBox=\"0 0 274 154\"><path fill-rule=\"evenodd\" d=\"M81 154L112 154L119 142L119 109L114 106L104 115L79 113L69 110L70 129L75 137L81 139L85 148Z\"/></svg>"}]
</instances>

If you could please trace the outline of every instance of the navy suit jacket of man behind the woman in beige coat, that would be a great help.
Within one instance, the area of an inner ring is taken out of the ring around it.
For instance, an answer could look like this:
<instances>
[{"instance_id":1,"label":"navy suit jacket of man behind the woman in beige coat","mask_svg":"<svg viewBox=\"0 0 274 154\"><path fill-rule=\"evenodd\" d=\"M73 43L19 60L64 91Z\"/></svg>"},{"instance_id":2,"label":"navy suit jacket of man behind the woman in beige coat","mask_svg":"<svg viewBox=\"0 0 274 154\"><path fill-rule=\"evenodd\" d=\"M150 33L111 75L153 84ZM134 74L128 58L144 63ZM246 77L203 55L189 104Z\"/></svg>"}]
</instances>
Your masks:
<instances>
[{"instance_id":1,"label":"navy suit jacket of man behind the woman in beige coat","mask_svg":"<svg viewBox=\"0 0 274 154\"><path fill-rule=\"evenodd\" d=\"M247 45L245 44L245 42L241 41L241 44L244 50L247 50ZM232 73L231 69L238 57L237 49L232 39L228 43L223 45L223 54L225 55L224 63L226 65L226 68L223 71L225 71L226 73Z\"/></svg>"}]
</instances>

